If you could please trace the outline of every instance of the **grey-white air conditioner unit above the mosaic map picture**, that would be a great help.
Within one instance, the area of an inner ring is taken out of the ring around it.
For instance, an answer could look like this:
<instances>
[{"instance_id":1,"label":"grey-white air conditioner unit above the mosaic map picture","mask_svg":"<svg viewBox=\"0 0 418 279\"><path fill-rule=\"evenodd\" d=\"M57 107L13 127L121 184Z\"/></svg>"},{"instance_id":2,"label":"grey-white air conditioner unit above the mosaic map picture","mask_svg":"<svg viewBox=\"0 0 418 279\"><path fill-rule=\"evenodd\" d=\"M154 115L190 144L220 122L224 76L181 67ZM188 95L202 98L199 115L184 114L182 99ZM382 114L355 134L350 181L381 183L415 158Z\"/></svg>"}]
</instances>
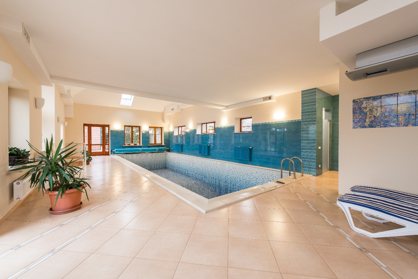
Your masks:
<instances>
[{"instance_id":1,"label":"grey-white air conditioner unit above the mosaic map picture","mask_svg":"<svg viewBox=\"0 0 418 279\"><path fill-rule=\"evenodd\" d=\"M358 53L356 68L346 71L352 81L418 68L418 36Z\"/></svg>"}]
</instances>

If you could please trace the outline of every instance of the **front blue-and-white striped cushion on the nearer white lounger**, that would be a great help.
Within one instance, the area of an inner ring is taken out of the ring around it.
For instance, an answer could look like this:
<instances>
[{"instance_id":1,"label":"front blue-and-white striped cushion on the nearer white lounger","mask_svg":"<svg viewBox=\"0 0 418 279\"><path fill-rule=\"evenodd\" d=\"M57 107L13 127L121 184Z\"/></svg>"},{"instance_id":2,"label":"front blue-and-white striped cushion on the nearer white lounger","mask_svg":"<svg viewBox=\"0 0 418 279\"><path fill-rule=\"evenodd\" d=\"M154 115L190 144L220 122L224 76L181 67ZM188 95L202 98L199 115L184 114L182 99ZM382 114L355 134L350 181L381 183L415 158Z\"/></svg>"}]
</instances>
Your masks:
<instances>
[{"instance_id":1,"label":"front blue-and-white striped cushion on the nearer white lounger","mask_svg":"<svg viewBox=\"0 0 418 279\"><path fill-rule=\"evenodd\" d=\"M364 206L418 224L418 206L416 205L358 194L344 194L338 200L342 203Z\"/></svg>"}]
</instances>

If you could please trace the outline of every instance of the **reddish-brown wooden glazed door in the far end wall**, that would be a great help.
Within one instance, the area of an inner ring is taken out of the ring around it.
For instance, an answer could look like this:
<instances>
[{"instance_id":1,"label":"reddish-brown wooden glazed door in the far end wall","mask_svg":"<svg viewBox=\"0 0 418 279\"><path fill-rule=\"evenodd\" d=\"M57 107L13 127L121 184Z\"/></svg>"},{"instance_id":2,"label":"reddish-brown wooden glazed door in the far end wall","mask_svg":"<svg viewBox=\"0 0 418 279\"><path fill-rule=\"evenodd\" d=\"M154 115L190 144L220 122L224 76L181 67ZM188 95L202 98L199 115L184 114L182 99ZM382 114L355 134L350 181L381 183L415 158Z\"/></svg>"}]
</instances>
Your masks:
<instances>
[{"instance_id":1,"label":"reddish-brown wooden glazed door in the far end wall","mask_svg":"<svg viewBox=\"0 0 418 279\"><path fill-rule=\"evenodd\" d=\"M109 125L84 124L84 143L92 156L110 155Z\"/></svg>"}]
</instances>

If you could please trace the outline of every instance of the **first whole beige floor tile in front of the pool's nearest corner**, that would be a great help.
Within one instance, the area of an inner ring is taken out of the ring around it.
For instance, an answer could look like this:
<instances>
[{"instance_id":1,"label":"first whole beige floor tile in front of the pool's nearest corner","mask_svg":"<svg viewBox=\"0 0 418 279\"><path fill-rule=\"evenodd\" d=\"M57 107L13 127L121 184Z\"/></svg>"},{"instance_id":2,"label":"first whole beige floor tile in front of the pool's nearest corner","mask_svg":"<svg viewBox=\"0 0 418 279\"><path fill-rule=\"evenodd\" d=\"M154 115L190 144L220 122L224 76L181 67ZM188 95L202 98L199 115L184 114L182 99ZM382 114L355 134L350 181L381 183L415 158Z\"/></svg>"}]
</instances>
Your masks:
<instances>
[{"instance_id":1,"label":"first whole beige floor tile in front of the pool's nearest corner","mask_svg":"<svg viewBox=\"0 0 418 279\"><path fill-rule=\"evenodd\" d=\"M228 223L226 218L198 217L192 234L228 236Z\"/></svg>"}]
</instances>

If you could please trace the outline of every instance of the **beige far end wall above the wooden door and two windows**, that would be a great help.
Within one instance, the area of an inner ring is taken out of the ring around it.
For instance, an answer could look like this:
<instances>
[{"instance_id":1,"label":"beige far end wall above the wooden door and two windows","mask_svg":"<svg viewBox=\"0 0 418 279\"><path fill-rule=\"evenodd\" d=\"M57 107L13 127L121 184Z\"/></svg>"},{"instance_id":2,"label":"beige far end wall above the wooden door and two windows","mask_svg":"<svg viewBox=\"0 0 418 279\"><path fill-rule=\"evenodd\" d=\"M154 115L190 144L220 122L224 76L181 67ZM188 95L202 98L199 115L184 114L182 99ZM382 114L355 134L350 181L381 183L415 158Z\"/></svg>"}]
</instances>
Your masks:
<instances>
[{"instance_id":1,"label":"beige far end wall above the wooden door and two windows","mask_svg":"<svg viewBox=\"0 0 418 279\"><path fill-rule=\"evenodd\" d=\"M108 124L111 130L123 130L124 125L157 126L168 129L163 123L162 112L149 112L136 109L102 107L87 104L74 104L74 118L66 118L66 142L83 142L83 124ZM119 128L117 128L119 125Z\"/></svg>"}]
</instances>

